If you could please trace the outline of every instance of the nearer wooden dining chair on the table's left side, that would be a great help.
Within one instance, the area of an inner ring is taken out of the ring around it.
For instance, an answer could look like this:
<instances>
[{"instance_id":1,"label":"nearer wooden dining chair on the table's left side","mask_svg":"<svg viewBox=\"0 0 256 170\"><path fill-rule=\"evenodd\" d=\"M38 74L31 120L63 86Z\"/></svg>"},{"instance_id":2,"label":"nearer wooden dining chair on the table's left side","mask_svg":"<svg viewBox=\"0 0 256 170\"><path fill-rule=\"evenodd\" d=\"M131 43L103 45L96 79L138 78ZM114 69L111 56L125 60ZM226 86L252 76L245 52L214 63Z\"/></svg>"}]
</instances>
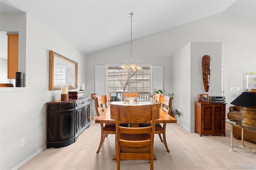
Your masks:
<instances>
[{"instance_id":1,"label":"nearer wooden dining chair on the table's left side","mask_svg":"<svg viewBox=\"0 0 256 170\"><path fill-rule=\"evenodd\" d=\"M95 98L95 109L98 117L104 112L103 104L105 104L104 95ZM100 144L96 153L100 152L100 148L108 134L116 134L116 125L114 123L100 123L100 128Z\"/></svg>"}]
</instances>

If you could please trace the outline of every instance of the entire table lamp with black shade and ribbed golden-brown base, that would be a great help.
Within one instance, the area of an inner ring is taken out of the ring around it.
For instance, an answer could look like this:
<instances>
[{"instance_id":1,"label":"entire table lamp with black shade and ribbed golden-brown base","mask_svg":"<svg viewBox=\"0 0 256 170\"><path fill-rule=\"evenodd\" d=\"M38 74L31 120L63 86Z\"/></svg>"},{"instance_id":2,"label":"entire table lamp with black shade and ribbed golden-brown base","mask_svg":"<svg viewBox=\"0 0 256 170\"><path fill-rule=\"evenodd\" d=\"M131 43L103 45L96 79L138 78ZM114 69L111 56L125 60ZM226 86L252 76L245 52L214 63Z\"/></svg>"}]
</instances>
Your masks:
<instances>
[{"instance_id":1,"label":"entire table lamp with black shade and ribbed golden-brown base","mask_svg":"<svg viewBox=\"0 0 256 170\"><path fill-rule=\"evenodd\" d=\"M242 116L242 126L256 128L256 92L243 92L234 101L232 105L242 106L240 114Z\"/></svg>"}]
</instances>

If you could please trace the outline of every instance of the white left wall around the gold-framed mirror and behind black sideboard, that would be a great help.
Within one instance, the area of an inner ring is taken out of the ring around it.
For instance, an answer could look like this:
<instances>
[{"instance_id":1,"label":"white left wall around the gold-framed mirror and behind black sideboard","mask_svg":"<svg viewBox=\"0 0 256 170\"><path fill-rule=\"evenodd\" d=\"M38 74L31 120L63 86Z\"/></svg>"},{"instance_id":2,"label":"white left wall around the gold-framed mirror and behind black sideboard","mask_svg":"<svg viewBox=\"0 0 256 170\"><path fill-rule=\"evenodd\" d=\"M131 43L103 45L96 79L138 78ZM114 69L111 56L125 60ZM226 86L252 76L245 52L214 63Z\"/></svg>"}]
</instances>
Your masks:
<instances>
[{"instance_id":1,"label":"white left wall around the gold-framed mirror and behind black sideboard","mask_svg":"<svg viewBox=\"0 0 256 170\"><path fill-rule=\"evenodd\" d=\"M12 16L1 13L1 26L5 17L12 19L4 23L9 26L20 22ZM86 55L32 16L25 14L23 22L26 31L19 32L19 37L26 38L26 49L20 49L24 47L21 43L19 51L26 51L26 89L0 89L0 169L3 170L19 168L46 147L46 103L61 96L60 91L48 91L49 50L78 62L78 84L86 83ZM22 138L25 145L20 148Z\"/></svg>"}]
</instances>

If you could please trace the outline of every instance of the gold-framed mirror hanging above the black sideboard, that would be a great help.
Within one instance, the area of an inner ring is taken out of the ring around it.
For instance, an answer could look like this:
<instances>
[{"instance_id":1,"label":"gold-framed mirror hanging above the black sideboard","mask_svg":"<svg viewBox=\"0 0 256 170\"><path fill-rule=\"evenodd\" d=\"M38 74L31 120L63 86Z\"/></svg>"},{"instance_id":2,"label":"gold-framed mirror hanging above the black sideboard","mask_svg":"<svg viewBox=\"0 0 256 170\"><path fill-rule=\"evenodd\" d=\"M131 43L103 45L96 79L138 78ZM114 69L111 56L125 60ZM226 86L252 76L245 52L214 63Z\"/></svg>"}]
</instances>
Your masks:
<instances>
[{"instance_id":1,"label":"gold-framed mirror hanging above the black sideboard","mask_svg":"<svg viewBox=\"0 0 256 170\"><path fill-rule=\"evenodd\" d=\"M61 85L77 89L78 63L50 50L49 90L60 90Z\"/></svg>"}]
</instances>

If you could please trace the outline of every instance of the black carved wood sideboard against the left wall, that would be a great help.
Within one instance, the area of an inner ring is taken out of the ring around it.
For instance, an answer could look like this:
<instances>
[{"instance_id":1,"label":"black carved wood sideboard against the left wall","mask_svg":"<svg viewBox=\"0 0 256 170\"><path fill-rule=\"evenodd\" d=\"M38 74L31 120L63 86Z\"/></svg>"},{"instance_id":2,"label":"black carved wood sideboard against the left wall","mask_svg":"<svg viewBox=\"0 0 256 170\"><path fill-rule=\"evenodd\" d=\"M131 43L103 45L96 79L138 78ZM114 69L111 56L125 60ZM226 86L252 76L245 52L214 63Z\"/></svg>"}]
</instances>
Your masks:
<instances>
[{"instance_id":1,"label":"black carved wood sideboard against the left wall","mask_svg":"<svg viewBox=\"0 0 256 170\"><path fill-rule=\"evenodd\" d=\"M47 102L47 148L76 142L90 127L90 97Z\"/></svg>"}]
</instances>

